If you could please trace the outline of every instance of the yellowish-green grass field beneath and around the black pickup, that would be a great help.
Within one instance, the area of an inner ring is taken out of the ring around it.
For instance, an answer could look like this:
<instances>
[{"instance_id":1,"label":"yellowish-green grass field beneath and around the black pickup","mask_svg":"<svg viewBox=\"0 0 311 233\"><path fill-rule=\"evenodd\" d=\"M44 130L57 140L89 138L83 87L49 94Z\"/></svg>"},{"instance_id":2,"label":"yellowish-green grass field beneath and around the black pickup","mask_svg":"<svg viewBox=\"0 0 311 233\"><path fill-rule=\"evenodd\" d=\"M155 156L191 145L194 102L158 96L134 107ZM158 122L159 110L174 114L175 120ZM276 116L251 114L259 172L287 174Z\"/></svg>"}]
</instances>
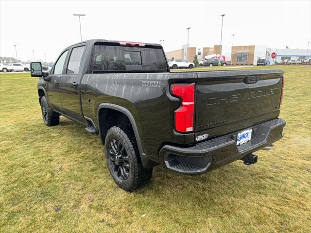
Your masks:
<instances>
[{"instance_id":1,"label":"yellowish-green grass field beneath and around the black pickup","mask_svg":"<svg viewBox=\"0 0 311 233\"><path fill-rule=\"evenodd\" d=\"M277 68L285 136L256 165L158 166L134 193L111 179L98 136L64 117L44 125L36 78L0 74L0 232L311 232L311 67Z\"/></svg>"}]
</instances>

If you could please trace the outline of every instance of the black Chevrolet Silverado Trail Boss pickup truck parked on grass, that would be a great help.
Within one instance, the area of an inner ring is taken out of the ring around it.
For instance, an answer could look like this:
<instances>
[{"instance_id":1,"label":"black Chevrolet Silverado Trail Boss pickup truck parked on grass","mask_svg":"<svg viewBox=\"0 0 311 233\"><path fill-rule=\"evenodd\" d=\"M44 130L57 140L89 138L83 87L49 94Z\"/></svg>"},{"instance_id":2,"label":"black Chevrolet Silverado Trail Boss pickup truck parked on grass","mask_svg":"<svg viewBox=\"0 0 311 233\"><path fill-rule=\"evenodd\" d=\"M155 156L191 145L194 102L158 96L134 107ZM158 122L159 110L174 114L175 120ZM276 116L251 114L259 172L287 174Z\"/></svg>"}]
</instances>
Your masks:
<instances>
[{"instance_id":1,"label":"black Chevrolet Silverado Trail Boss pickup truck parked on grass","mask_svg":"<svg viewBox=\"0 0 311 233\"><path fill-rule=\"evenodd\" d=\"M31 63L31 75L40 77L44 123L62 115L98 134L127 191L148 183L157 165L195 175L254 164L253 152L283 136L279 69L170 73L159 44L87 40L63 50L49 73Z\"/></svg>"}]
</instances>

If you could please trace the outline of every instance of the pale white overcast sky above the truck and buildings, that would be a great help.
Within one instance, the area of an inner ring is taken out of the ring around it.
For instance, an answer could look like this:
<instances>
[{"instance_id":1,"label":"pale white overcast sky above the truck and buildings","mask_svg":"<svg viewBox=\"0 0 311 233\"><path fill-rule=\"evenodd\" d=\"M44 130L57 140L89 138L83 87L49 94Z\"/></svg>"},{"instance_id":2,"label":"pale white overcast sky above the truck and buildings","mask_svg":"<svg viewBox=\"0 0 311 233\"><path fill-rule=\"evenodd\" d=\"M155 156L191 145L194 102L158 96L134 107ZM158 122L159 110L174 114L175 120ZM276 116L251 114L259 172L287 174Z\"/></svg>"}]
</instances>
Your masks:
<instances>
[{"instance_id":1,"label":"pale white overcast sky above the truck and buildings","mask_svg":"<svg viewBox=\"0 0 311 233\"><path fill-rule=\"evenodd\" d=\"M82 38L159 43L166 51L190 46L268 45L307 49L311 41L311 0L292 1L14 1L0 0L0 56L23 61L54 61L67 46ZM309 47L310 49L310 47Z\"/></svg>"}]
</instances>

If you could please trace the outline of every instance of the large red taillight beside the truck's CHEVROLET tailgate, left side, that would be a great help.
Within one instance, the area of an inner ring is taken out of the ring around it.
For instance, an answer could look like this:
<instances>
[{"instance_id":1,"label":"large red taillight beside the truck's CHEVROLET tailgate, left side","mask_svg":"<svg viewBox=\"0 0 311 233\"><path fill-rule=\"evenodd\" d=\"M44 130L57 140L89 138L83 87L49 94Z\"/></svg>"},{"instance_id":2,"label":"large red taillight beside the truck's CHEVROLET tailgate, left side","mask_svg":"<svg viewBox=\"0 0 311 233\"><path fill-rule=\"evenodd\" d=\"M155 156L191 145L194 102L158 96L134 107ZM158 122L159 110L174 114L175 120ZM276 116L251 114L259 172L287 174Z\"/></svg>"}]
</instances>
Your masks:
<instances>
[{"instance_id":1,"label":"large red taillight beside the truck's CHEVROLET tailgate, left side","mask_svg":"<svg viewBox=\"0 0 311 233\"><path fill-rule=\"evenodd\" d=\"M173 95L181 99L180 107L174 112L175 130L179 132L193 131L194 120L194 83L173 84Z\"/></svg>"}]
</instances>

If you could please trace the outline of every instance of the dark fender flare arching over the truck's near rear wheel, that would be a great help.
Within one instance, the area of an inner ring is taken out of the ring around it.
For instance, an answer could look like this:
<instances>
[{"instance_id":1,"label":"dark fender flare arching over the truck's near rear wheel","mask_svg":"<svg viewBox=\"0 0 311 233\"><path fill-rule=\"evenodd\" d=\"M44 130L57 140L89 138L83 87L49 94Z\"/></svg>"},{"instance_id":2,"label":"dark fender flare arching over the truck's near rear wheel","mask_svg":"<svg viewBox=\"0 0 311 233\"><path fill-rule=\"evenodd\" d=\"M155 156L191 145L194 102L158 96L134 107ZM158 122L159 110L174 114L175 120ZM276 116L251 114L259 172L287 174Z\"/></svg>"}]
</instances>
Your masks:
<instances>
[{"instance_id":1,"label":"dark fender flare arching over the truck's near rear wheel","mask_svg":"<svg viewBox=\"0 0 311 233\"><path fill-rule=\"evenodd\" d=\"M129 120L130 120L130 122L132 124L132 127L133 127L134 134L135 134L136 143L137 143L137 146L138 146L140 157L142 159L143 158L148 159L147 155L144 153L143 148L142 148L142 144L141 144L141 141L140 141L140 137L139 137L139 133L138 133L138 128L137 128L134 116L126 108L124 108L124 107L122 107L120 105L112 104L112 103L101 103L98 106L98 110L97 110L97 121L98 121L97 123L98 123L99 134L102 135L101 127L100 127L100 122L99 122L99 112L103 108L109 108L109 109L113 109L113 110L119 111L119 112L123 113L125 116L127 116L129 118Z\"/></svg>"}]
</instances>

